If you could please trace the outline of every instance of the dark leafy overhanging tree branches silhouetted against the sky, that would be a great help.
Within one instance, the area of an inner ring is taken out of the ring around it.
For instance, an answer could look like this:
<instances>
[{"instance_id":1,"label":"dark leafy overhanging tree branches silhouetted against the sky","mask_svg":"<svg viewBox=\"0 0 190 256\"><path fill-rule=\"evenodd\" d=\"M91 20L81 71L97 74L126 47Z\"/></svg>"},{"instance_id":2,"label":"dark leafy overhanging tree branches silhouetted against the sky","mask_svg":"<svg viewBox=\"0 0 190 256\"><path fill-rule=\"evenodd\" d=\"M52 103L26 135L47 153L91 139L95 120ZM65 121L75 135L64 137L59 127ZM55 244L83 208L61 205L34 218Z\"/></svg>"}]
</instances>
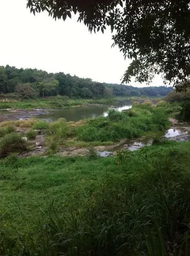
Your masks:
<instances>
[{"instance_id":1,"label":"dark leafy overhanging tree branches silhouetted against the sky","mask_svg":"<svg viewBox=\"0 0 190 256\"><path fill-rule=\"evenodd\" d=\"M120 6L118 5L120 4ZM190 0L28 0L30 11L48 11L53 18L79 13L79 21L94 32L106 25L115 30L113 45L132 62L123 76L130 82L151 82L161 74L177 90L190 77Z\"/></svg>"}]
</instances>

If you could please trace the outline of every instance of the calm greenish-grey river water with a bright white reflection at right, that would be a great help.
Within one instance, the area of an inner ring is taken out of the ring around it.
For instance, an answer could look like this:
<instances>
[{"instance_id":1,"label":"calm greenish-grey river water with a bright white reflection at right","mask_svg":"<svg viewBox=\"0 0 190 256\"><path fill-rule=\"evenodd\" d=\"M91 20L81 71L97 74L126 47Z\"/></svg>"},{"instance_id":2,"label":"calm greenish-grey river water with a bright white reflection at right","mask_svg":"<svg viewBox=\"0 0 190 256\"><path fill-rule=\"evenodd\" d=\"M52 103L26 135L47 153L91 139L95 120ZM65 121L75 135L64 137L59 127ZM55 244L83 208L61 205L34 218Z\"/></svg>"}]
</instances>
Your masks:
<instances>
[{"instance_id":1,"label":"calm greenish-grey river water with a bright white reflection at right","mask_svg":"<svg viewBox=\"0 0 190 256\"><path fill-rule=\"evenodd\" d=\"M65 118L67 121L79 121L82 119L95 118L97 116L107 116L110 109L118 111L131 109L131 103L121 106L78 106L78 107L64 107L61 110L51 110L49 115L38 115L39 119L47 122L56 121L59 118Z\"/></svg>"}]
</instances>

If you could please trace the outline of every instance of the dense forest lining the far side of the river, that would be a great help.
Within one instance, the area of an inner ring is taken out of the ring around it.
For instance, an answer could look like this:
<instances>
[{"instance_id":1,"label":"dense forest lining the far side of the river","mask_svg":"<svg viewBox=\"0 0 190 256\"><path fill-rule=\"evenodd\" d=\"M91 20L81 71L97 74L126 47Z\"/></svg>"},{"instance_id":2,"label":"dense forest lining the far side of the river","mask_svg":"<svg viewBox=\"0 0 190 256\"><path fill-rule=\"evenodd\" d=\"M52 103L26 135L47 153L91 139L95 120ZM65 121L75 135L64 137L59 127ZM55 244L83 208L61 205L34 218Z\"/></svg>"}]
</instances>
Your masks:
<instances>
[{"instance_id":1,"label":"dense forest lining the far side of the river","mask_svg":"<svg viewBox=\"0 0 190 256\"><path fill-rule=\"evenodd\" d=\"M12 93L20 99L64 95L69 98L92 99L111 96L165 96L172 87L143 87L100 83L90 78L63 72L48 73L32 68L0 66L0 93Z\"/></svg>"}]
</instances>

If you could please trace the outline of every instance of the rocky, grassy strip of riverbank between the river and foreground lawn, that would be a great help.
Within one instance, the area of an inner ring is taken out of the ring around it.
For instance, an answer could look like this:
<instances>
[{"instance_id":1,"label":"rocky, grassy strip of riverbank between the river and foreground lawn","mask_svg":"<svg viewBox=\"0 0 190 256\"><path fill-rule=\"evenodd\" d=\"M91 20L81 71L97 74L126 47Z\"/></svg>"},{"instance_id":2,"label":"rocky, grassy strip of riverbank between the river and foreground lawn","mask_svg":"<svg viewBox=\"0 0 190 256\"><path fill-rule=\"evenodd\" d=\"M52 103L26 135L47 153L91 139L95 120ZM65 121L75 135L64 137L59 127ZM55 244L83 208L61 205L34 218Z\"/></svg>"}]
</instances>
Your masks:
<instances>
[{"instance_id":1,"label":"rocky, grassy strip of riverbank between the river and foreground lawn","mask_svg":"<svg viewBox=\"0 0 190 256\"><path fill-rule=\"evenodd\" d=\"M168 107L169 110L173 109L172 105ZM88 154L88 147L93 147L94 151L101 153L101 151L115 151L115 148L127 149L140 137L146 137L146 140L147 137L153 139L171 126L167 111L166 106L141 104L133 105L132 109L122 112L111 109L105 116L77 122L58 119L56 122L47 123L40 119L22 118L1 122L0 126L2 134L9 133L5 129L11 126L11 131L28 138L25 146L28 151L18 151L19 156L49 154L75 156ZM144 145L143 142L141 144Z\"/></svg>"}]
</instances>

